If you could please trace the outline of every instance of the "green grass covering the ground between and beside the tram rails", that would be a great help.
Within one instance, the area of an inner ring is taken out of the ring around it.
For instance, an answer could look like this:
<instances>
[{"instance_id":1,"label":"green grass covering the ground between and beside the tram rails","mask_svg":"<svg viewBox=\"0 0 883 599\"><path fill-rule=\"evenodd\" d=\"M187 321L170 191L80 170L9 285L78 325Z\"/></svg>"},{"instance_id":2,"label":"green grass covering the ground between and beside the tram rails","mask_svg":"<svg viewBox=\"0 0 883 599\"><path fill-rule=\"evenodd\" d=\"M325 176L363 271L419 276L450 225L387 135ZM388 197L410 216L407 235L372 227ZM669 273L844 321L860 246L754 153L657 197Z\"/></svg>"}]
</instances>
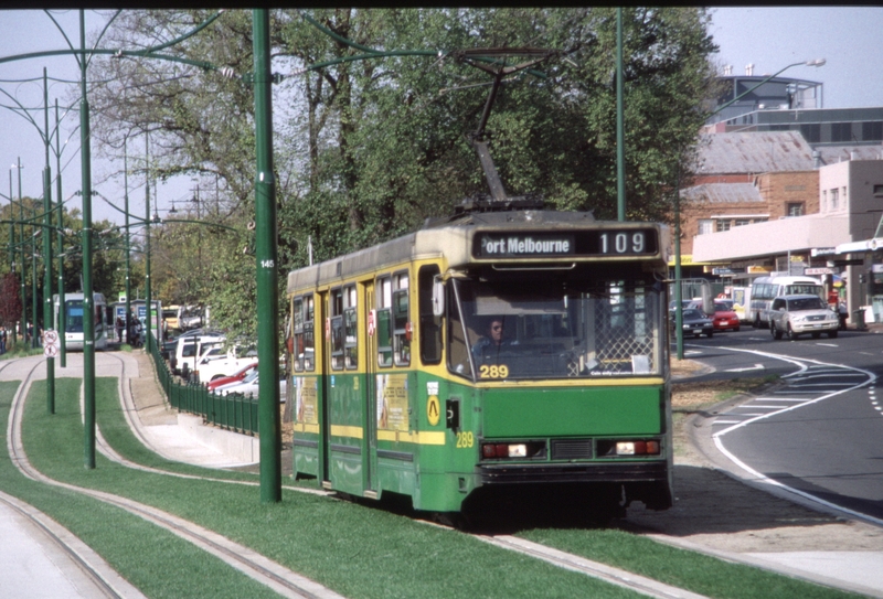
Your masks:
<instances>
[{"instance_id":1,"label":"green grass covering the ground between and beside the tram rails","mask_svg":"<svg viewBox=\"0 0 883 599\"><path fill-rule=\"evenodd\" d=\"M18 384L0 385L0 419L6 435ZM151 453L128 429L117 394L115 378L96 381L102 434L127 459L188 474L257 480L254 474L178 464ZM281 503L262 504L256 486L141 472L100 454L96 457L97 468L85 470L78 395L79 381L56 379L56 414L50 416L45 414L45 383L33 385L24 418L24 443L29 459L44 474L166 510L347 597L639 597L468 535L349 502L284 490ZM0 473L4 491L58 520L150 597L270 593L137 516L29 481L14 471L8 458L0 460ZM538 528L520 536L710 597L852 597L620 531Z\"/></svg>"}]
</instances>

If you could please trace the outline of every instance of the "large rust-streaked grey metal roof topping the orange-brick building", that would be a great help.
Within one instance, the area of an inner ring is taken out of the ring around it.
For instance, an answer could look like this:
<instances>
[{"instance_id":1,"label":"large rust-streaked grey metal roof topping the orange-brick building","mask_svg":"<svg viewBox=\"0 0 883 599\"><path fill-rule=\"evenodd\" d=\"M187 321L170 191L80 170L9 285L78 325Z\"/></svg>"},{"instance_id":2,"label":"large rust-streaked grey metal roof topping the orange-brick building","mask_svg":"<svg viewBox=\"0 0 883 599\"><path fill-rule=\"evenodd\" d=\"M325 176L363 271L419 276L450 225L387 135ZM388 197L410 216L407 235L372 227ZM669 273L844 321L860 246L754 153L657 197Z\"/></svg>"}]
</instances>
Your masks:
<instances>
[{"instance_id":1,"label":"large rust-streaked grey metal roof topping the orange-brick building","mask_svg":"<svg viewBox=\"0 0 883 599\"><path fill-rule=\"evenodd\" d=\"M812 148L798 131L701 135L698 174L811 171Z\"/></svg>"}]
</instances>

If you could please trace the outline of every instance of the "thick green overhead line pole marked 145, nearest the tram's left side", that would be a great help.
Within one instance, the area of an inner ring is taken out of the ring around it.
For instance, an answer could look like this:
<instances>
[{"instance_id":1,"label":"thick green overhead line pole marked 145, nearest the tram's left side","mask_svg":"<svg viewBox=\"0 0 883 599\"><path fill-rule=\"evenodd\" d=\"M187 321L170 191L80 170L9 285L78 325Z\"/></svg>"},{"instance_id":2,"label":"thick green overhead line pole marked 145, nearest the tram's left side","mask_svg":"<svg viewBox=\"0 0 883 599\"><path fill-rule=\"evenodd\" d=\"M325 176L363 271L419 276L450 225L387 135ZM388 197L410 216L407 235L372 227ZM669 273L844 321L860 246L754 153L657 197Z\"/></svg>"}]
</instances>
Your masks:
<instances>
[{"instance_id":1,"label":"thick green overhead line pole marked 145, nearest the tram's left side","mask_svg":"<svg viewBox=\"0 0 883 599\"><path fill-rule=\"evenodd\" d=\"M257 263L258 431L260 502L281 501L281 418L279 415L279 340L276 183L273 169L273 96L269 13L252 12L255 93L255 259Z\"/></svg>"}]
</instances>

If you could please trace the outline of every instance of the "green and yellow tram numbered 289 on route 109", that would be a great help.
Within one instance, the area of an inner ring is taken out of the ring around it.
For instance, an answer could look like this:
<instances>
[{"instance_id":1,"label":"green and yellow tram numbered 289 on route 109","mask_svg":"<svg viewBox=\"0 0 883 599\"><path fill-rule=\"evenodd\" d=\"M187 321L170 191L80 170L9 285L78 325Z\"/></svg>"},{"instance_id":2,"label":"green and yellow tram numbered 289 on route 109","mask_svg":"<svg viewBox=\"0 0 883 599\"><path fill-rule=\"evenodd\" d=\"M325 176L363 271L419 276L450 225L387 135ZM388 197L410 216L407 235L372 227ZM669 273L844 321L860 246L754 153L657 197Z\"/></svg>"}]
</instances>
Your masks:
<instances>
[{"instance_id":1,"label":"green and yellow tram numbered 289 on route 109","mask_svg":"<svg viewBox=\"0 0 883 599\"><path fill-rule=\"evenodd\" d=\"M668 247L467 212L290 272L295 475L432 512L513 488L669 507Z\"/></svg>"}]
</instances>

